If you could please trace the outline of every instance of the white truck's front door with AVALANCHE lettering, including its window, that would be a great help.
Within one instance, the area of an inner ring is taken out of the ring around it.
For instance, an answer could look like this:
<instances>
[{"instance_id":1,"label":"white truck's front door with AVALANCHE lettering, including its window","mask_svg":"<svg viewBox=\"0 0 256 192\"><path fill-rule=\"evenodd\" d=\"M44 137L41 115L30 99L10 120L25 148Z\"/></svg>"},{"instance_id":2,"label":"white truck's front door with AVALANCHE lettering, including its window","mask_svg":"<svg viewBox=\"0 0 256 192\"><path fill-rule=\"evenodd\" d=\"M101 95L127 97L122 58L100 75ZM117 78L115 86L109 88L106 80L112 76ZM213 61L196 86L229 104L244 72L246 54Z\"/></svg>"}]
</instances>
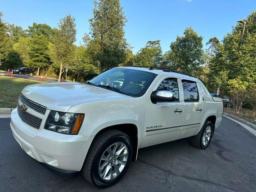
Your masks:
<instances>
[{"instance_id":1,"label":"white truck's front door with AVALANCHE lettering, including its window","mask_svg":"<svg viewBox=\"0 0 256 192\"><path fill-rule=\"evenodd\" d=\"M140 147L176 140L180 133L183 106L180 104L178 79L172 77L162 78L160 83L156 85L155 90L172 91L176 96L176 100L153 104L150 96L147 96L144 135Z\"/></svg>"}]
</instances>

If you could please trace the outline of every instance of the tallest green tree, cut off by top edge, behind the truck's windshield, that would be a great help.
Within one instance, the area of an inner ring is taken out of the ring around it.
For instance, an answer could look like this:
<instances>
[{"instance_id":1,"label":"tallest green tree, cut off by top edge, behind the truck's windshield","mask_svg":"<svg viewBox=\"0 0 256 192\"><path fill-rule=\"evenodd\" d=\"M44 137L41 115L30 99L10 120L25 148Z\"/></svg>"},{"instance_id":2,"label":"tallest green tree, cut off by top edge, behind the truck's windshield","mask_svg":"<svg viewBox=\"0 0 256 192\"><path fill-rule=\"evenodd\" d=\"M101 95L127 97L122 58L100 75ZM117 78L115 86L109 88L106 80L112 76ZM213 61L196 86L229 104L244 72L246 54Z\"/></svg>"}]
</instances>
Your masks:
<instances>
[{"instance_id":1,"label":"tallest green tree, cut off by top edge, behind the truck's windshield","mask_svg":"<svg viewBox=\"0 0 256 192\"><path fill-rule=\"evenodd\" d=\"M127 42L124 38L126 17L120 0L94 1L93 18L89 19L90 33L85 34L88 51L102 73L122 64L126 58Z\"/></svg>"}]
</instances>

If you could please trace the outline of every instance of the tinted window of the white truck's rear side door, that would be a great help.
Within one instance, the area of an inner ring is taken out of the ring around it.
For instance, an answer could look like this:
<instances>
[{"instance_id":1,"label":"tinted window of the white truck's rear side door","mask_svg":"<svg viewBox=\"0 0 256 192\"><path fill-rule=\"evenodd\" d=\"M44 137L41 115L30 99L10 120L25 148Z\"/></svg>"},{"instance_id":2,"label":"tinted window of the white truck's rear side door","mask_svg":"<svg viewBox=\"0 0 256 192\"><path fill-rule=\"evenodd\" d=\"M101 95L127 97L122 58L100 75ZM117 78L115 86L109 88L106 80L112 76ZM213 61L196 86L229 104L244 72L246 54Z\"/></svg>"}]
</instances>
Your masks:
<instances>
[{"instance_id":1,"label":"tinted window of the white truck's rear side door","mask_svg":"<svg viewBox=\"0 0 256 192\"><path fill-rule=\"evenodd\" d=\"M184 102L198 102L199 94L196 82L189 80L182 80L182 87L184 93Z\"/></svg>"}]
</instances>

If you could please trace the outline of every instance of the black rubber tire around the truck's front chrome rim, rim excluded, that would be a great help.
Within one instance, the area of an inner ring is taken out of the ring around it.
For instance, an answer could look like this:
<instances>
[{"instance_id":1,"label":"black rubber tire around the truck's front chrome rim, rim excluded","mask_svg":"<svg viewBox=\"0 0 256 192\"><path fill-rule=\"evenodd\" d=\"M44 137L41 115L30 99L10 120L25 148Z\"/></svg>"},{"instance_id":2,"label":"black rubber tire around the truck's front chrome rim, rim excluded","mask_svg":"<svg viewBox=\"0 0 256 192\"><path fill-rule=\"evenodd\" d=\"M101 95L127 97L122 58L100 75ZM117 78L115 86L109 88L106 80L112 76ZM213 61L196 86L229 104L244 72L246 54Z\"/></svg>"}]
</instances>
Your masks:
<instances>
[{"instance_id":1,"label":"black rubber tire around the truck's front chrome rim, rim excluded","mask_svg":"<svg viewBox=\"0 0 256 192\"><path fill-rule=\"evenodd\" d=\"M116 142L123 142L128 149L128 159L122 172L112 181L106 181L100 178L98 173L98 166L100 158L106 149ZM84 166L82 167L82 174L84 178L99 188L106 188L116 184L128 170L132 160L132 142L128 135L119 130L108 130L98 135L88 151Z\"/></svg>"}]
</instances>

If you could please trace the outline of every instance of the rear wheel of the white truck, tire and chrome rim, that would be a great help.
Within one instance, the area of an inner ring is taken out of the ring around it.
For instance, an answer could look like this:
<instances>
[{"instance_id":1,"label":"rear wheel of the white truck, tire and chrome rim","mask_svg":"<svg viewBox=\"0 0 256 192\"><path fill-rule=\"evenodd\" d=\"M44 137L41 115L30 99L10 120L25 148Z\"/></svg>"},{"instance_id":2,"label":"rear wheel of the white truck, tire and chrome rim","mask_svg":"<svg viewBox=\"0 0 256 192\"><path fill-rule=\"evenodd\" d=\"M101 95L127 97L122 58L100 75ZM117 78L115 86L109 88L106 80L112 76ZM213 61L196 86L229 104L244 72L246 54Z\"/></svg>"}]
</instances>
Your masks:
<instances>
[{"instance_id":1,"label":"rear wheel of the white truck, tire and chrome rim","mask_svg":"<svg viewBox=\"0 0 256 192\"><path fill-rule=\"evenodd\" d=\"M191 137L192 146L198 149L205 149L210 144L213 134L213 124L212 122L206 120L204 126L200 130L200 132Z\"/></svg>"}]
</instances>

